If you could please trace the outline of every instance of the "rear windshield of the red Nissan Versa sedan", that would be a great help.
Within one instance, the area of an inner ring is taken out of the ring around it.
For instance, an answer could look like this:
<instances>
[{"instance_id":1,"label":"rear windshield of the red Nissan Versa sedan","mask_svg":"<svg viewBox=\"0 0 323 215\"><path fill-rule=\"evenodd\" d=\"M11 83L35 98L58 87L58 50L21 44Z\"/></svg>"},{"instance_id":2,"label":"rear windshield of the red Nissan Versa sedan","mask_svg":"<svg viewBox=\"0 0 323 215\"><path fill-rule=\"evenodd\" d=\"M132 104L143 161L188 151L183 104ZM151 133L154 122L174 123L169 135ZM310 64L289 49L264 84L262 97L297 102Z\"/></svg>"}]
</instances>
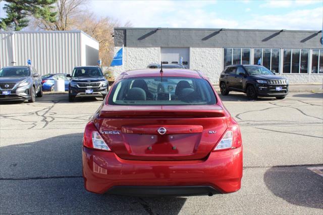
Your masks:
<instances>
[{"instance_id":1,"label":"rear windshield of the red Nissan Versa sedan","mask_svg":"<svg viewBox=\"0 0 323 215\"><path fill-rule=\"evenodd\" d=\"M216 96L204 79L181 77L127 78L109 96L112 105L215 104Z\"/></svg>"}]
</instances>

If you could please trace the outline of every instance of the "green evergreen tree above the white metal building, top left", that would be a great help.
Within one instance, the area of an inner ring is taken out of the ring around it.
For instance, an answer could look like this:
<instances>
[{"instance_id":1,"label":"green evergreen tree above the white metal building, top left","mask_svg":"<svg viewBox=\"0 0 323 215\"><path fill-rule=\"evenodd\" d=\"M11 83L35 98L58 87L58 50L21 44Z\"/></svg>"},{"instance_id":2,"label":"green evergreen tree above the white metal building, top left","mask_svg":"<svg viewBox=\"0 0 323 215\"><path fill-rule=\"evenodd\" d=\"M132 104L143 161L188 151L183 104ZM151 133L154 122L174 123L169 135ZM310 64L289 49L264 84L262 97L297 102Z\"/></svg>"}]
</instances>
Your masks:
<instances>
[{"instance_id":1,"label":"green evergreen tree above the white metal building, top left","mask_svg":"<svg viewBox=\"0 0 323 215\"><path fill-rule=\"evenodd\" d=\"M29 17L42 18L48 22L56 21L56 12L51 9L57 0L6 0L4 10L7 17L0 21L0 29L19 31L28 26Z\"/></svg>"}]
</instances>

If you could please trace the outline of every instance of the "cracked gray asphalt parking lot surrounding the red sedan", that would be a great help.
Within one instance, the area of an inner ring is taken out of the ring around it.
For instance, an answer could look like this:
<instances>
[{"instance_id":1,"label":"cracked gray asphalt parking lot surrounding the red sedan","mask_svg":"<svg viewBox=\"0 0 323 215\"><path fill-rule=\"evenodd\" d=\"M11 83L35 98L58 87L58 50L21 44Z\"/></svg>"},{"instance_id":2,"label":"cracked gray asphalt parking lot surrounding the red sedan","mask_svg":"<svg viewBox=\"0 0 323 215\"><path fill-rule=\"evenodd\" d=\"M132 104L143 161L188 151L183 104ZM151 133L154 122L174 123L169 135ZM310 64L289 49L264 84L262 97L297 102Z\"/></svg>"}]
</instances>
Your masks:
<instances>
[{"instance_id":1,"label":"cracked gray asphalt parking lot surrounding the red sedan","mask_svg":"<svg viewBox=\"0 0 323 215\"><path fill-rule=\"evenodd\" d=\"M222 99L241 126L244 176L240 191L211 197L89 193L81 141L102 100L69 103L67 94L47 94L35 103L1 104L0 213L322 214L323 93Z\"/></svg>"}]
</instances>

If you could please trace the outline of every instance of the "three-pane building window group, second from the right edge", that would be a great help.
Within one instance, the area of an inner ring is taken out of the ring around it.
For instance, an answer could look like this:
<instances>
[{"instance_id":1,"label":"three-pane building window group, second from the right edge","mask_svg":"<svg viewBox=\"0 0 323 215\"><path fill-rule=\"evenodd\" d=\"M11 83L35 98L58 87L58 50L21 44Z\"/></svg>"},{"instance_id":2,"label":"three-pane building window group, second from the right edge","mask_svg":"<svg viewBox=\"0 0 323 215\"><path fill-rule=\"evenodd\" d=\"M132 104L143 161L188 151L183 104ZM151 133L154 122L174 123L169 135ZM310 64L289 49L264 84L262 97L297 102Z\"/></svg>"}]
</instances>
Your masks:
<instances>
[{"instance_id":1,"label":"three-pane building window group, second from the right edge","mask_svg":"<svg viewBox=\"0 0 323 215\"><path fill-rule=\"evenodd\" d=\"M284 49L283 73L308 73L308 49Z\"/></svg>"}]
</instances>

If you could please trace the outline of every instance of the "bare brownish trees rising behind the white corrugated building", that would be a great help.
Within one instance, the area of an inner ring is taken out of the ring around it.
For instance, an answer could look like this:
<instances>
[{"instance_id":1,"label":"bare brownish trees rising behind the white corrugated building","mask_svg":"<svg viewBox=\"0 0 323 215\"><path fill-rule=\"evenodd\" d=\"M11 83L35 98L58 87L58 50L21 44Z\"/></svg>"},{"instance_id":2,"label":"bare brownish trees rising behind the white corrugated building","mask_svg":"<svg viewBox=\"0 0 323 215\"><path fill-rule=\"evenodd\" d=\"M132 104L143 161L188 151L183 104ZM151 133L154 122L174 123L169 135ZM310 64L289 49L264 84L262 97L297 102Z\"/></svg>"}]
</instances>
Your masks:
<instances>
[{"instance_id":1,"label":"bare brownish trees rising behind the white corrugated building","mask_svg":"<svg viewBox=\"0 0 323 215\"><path fill-rule=\"evenodd\" d=\"M110 65L114 55L114 27L121 26L117 19L97 17L86 9L88 0L58 0L56 3L56 21L53 23L43 19L32 18L29 28L41 30L82 30L99 42L99 58L102 65ZM128 21L124 25L131 27Z\"/></svg>"}]
</instances>

